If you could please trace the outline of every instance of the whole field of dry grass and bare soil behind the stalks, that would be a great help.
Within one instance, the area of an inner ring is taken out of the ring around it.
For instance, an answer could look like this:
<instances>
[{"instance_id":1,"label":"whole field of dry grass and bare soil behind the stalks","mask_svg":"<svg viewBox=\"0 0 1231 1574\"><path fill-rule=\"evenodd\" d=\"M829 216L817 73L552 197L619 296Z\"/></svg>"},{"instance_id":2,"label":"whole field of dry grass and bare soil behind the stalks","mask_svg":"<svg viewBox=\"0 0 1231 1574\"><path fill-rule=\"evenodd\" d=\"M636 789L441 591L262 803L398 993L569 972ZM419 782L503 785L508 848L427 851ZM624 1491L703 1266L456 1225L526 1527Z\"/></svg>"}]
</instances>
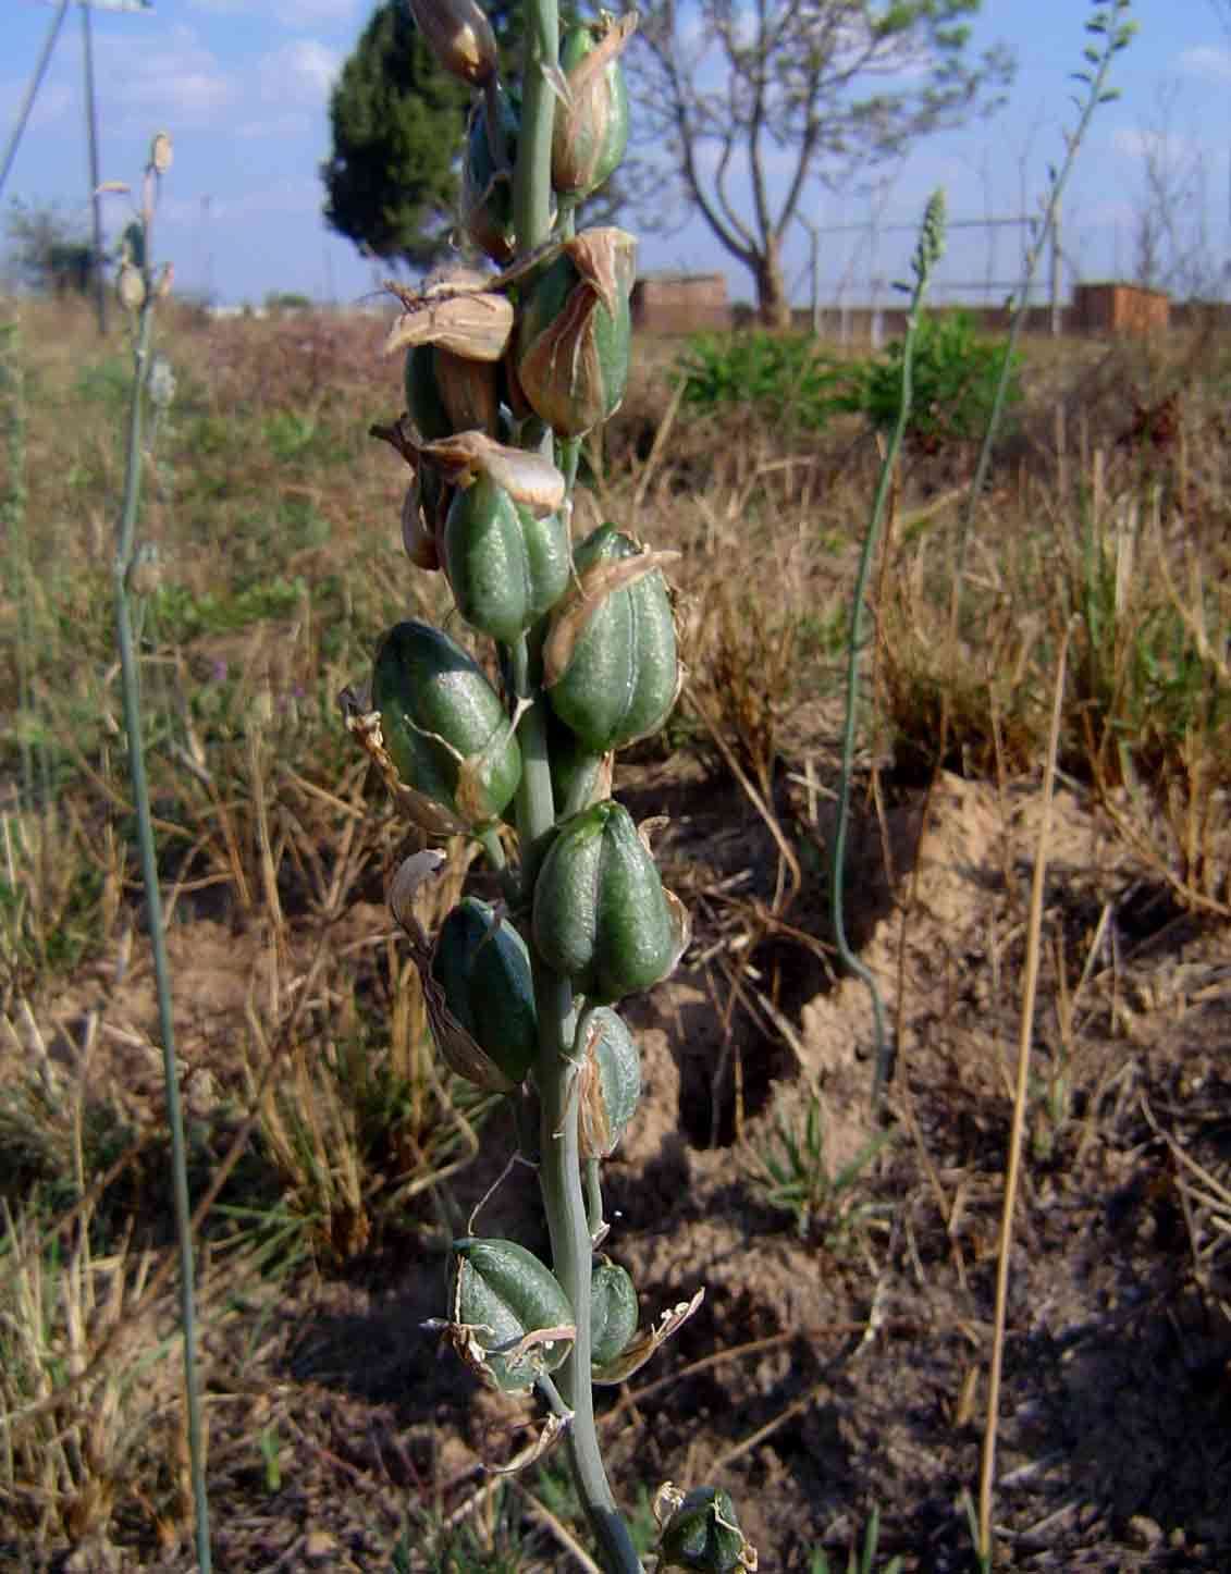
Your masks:
<instances>
[{"instance_id":1,"label":"whole field of dry grass and bare soil behind the stalks","mask_svg":"<svg viewBox=\"0 0 1231 1574\"><path fill-rule=\"evenodd\" d=\"M112 609L131 357L71 302L0 324L0 1565L187 1569ZM140 639L216 1566L576 1568L564 1467L485 1475L526 1412L420 1328L508 1144L485 1146L505 1114L431 1047L384 907L417 833L337 710L390 622L463 637L401 551L405 469L367 434L400 408L383 327L170 307L159 337L176 395ZM663 1480L726 1484L762 1569L845 1566L874 1509L883 1563L974 1566L1034 941L996 1566L1231 1566L1231 342L1028 340L973 502L970 441L907 445L847 864L897 1044L883 1130L867 995L828 921L877 438L790 401L696 408L678 353L636 345L575 519L683 554L686 688L616 789L671 817L656 850L694 935L630 1012L647 1100L608 1250L644 1316L708 1292L604 1401L623 1502L649 1536ZM485 1229L534 1228L532 1188L507 1180Z\"/></svg>"}]
</instances>

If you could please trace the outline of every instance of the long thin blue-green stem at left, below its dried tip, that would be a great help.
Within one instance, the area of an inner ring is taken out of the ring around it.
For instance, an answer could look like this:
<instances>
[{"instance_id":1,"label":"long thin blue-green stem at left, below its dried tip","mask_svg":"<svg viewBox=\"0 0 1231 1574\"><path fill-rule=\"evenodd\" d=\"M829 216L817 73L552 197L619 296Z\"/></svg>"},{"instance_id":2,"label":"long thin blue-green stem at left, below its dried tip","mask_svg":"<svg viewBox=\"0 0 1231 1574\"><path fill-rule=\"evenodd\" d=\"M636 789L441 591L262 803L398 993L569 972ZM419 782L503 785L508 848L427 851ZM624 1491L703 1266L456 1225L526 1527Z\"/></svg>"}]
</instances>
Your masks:
<instances>
[{"instance_id":1,"label":"long thin blue-green stem at left, below its dried tip","mask_svg":"<svg viewBox=\"0 0 1231 1574\"><path fill-rule=\"evenodd\" d=\"M148 242L148 228L146 228ZM146 264L148 266L148 264ZM150 280L146 279L146 285ZM189 1469L192 1475L192 1500L197 1517L197 1561L201 1574L211 1574L209 1554L209 1498L205 1486L205 1448L201 1443L201 1398L197 1380L197 1306L194 1295L195 1264L192 1251L192 1209L187 1190L187 1149L184 1143L184 1114L179 1102L179 1072L175 1061L175 1023L172 1018L172 970L167 957L167 940L162 924L162 892L157 877L157 853L154 826L150 812L150 782L145 773L145 748L142 743L142 697L137 642L132 631L128 573L134 560L137 535L137 504L142 483L142 408L145 400L145 375L150 359L150 340L154 323L154 294L146 288L137 340L134 346L132 398L128 422L128 461L124 467L124 497L120 512L118 543L112 568L115 582L115 631L120 645L120 675L124 705L124 733L128 737L128 767L132 782L132 803L137 814L137 850L145 886L146 922L150 944L154 954L154 985L157 992L159 1034L162 1037L162 1075L167 1089L167 1124L172 1133L172 1193L175 1198L175 1226L179 1242L179 1319L184 1330L184 1396L187 1406Z\"/></svg>"}]
</instances>

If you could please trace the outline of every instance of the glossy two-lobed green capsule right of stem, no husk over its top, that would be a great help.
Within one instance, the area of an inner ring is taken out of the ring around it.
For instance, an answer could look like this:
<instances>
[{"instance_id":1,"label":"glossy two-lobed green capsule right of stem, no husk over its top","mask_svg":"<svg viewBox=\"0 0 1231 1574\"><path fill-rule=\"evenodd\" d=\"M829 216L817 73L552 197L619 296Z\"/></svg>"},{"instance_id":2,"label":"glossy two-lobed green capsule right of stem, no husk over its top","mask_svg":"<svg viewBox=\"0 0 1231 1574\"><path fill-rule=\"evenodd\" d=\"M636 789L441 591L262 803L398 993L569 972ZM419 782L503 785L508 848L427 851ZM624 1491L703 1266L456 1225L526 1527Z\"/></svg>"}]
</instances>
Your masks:
<instances>
[{"instance_id":1,"label":"glossy two-lobed green capsule right of stem, no husk over its top","mask_svg":"<svg viewBox=\"0 0 1231 1574\"><path fill-rule=\"evenodd\" d=\"M611 800L559 828L534 888L534 943L592 1004L649 988L678 962L688 921L628 811Z\"/></svg>"}]
</instances>

